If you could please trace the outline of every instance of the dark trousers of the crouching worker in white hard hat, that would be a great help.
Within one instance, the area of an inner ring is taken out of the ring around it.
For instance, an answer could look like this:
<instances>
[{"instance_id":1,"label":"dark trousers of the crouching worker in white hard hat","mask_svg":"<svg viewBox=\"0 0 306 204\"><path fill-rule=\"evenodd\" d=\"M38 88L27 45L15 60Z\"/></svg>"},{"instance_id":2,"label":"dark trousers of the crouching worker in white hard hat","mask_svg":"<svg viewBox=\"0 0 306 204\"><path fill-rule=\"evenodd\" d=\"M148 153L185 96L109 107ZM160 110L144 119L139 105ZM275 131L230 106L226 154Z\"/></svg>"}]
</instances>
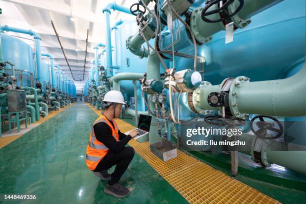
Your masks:
<instances>
[{"instance_id":1,"label":"dark trousers of the crouching worker in white hard hat","mask_svg":"<svg viewBox=\"0 0 306 204\"><path fill-rule=\"evenodd\" d=\"M120 180L133 157L134 149L131 146L124 146L118 153L108 151L93 171L102 171L116 165L109 180L109 184L112 185Z\"/></svg>"}]
</instances>

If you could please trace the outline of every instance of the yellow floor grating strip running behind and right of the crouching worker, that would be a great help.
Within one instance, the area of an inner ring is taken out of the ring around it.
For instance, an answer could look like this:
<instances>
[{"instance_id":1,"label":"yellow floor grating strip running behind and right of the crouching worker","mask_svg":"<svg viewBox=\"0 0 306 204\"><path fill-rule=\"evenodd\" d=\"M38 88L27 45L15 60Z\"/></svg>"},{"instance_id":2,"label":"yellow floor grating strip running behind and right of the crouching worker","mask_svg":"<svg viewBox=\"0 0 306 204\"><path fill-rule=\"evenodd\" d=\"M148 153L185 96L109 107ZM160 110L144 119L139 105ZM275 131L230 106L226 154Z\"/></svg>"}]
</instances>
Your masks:
<instances>
[{"instance_id":1,"label":"yellow floor grating strip running behind and right of the crouching worker","mask_svg":"<svg viewBox=\"0 0 306 204\"><path fill-rule=\"evenodd\" d=\"M116 123L121 132L135 128L121 119ZM280 203L183 151L164 162L150 152L148 141L128 144L190 203Z\"/></svg>"}]
</instances>

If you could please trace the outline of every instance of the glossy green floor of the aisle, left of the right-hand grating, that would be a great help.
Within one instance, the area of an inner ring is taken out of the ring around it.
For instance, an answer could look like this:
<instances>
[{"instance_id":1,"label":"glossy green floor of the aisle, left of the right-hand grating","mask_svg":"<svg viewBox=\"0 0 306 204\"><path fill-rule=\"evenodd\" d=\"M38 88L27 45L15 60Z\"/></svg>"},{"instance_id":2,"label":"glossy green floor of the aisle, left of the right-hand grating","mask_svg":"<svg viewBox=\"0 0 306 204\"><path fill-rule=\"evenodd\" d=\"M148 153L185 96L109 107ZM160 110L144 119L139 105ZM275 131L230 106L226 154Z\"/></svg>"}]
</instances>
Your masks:
<instances>
[{"instance_id":1,"label":"glossy green floor of the aisle, left of the right-hand grating","mask_svg":"<svg viewBox=\"0 0 306 204\"><path fill-rule=\"evenodd\" d=\"M76 102L1 148L0 193L36 195L35 201L7 203L187 203L137 153L121 178L131 193L120 199L105 194L105 181L84 160L96 118L85 103Z\"/></svg>"}]
</instances>

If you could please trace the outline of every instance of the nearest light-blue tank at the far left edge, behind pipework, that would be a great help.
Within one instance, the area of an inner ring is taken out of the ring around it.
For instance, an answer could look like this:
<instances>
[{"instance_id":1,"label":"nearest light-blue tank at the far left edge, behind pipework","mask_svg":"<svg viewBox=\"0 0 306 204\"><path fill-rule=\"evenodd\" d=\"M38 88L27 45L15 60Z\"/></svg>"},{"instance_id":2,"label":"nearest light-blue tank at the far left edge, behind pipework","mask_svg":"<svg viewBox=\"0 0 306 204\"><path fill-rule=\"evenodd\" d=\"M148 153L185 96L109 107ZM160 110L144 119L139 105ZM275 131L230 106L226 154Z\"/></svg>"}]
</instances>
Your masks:
<instances>
[{"instance_id":1,"label":"nearest light-blue tank at the far left edge, behind pipework","mask_svg":"<svg viewBox=\"0 0 306 204\"><path fill-rule=\"evenodd\" d=\"M4 33L1 33L1 46L4 61L14 64L17 86L33 86L35 68L32 48L22 40ZM12 74L9 65L6 66L5 72Z\"/></svg>"}]
</instances>

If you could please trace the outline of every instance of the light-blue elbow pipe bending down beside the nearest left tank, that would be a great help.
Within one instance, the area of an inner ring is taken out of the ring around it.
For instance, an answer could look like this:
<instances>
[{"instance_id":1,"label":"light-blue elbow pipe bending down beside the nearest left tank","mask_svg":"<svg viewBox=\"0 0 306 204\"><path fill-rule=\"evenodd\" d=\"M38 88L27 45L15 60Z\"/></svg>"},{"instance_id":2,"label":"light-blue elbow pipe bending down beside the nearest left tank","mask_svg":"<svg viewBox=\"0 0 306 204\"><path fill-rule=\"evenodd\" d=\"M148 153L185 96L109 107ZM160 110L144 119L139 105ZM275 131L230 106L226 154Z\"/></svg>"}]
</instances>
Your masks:
<instances>
[{"instance_id":1,"label":"light-blue elbow pipe bending down beside the nearest left tank","mask_svg":"<svg viewBox=\"0 0 306 204\"><path fill-rule=\"evenodd\" d=\"M39 78L41 77L41 73L40 73L40 57L41 57L41 52L40 52L40 36L39 34L37 34L36 32L32 31L32 30L26 30L26 29L20 29L20 28L16 28L16 27L9 27L7 25L1 26L0 27L0 31L11 31L11 32L18 32L18 33L23 33L23 34L28 34L34 37L34 41L35 41L35 55L36 55L36 68L37 68L37 72L36 72L36 80L39 80Z\"/></svg>"}]
</instances>

